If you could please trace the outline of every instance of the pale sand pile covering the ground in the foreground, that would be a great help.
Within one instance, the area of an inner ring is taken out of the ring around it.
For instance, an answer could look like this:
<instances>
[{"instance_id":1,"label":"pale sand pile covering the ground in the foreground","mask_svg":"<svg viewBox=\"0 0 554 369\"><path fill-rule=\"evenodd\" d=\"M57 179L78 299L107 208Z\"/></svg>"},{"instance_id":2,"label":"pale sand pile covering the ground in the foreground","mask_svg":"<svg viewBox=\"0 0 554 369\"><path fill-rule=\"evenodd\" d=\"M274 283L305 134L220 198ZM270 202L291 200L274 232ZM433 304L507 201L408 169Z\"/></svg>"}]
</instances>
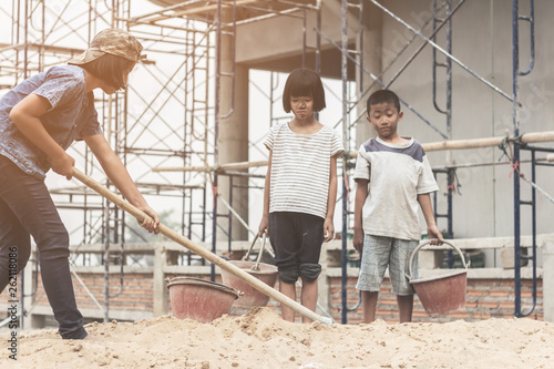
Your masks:
<instances>
[{"instance_id":1,"label":"pale sand pile covering the ground in the foreground","mask_svg":"<svg viewBox=\"0 0 554 369\"><path fill-rule=\"evenodd\" d=\"M102 341L24 334L1 368L554 368L554 324L531 319L289 324L269 308L212 324L170 316L91 324ZM7 335L1 335L6 342Z\"/></svg>"}]
</instances>

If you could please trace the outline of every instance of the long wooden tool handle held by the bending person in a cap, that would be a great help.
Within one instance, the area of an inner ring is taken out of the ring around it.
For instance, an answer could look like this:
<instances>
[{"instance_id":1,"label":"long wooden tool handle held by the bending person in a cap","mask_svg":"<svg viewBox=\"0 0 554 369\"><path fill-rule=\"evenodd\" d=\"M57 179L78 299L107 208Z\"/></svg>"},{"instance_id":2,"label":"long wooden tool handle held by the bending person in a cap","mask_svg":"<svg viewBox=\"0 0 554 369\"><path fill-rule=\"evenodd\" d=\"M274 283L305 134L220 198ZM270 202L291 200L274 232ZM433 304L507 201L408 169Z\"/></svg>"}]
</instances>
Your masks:
<instances>
[{"instance_id":1,"label":"long wooden tool handle held by the bending person in a cap","mask_svg":"<svg viewBox=\"0 0 554 369\"><path fill-rule=\"evenodd\" d=\"M81 181L88 187L94 189L100 195L110 199L112 203L114 203L115 205L121 207L126 213L134 216L138 222L142 223L148 216L148 215L146 215L146 213L144 213L141 209L136 208L135 206L131 205L129 202L121 198L119 195L116 195L112 191L107 189L106 187L104 187L100 183L95 182L94 180L92 180L91 177L89 177L86 174L79 171L78 168L73 168L73 176L76 180ZM260 281L256 277L253 277L252 275L244 271L243 269L224 260L223 258L213 254L212 252L209 252L201 246L195 245L191 239L179 235L178 233L176 233L175 230L165 226L164 224L160 224L158 229L160 229L160 233L163 234L164 236L166 236L167 238L186 247L187 249L189 249L191 252L195 253L198 256L202 256L206 260L217 265L219 268L225 269L225 270L234 274L235 276L243 279L244 281L246 281L248 285L253 286L254 288L256 288L260 293L274 298L275 300L279 301L280 304L283 304L283 305L289 307L290 309L293 309L294 311L298 312L299 315L301 315L308 319L315 320L315 321L320 321L320 322L326 324L328 326L330 326L332 324L331 318L320 316L320 315L311 311L310 309L306 308L305 306L301 306L297 301L283 295L281 293L274 289L273 287L269 287L265 283Z\"/></svg>"}]
</instances>

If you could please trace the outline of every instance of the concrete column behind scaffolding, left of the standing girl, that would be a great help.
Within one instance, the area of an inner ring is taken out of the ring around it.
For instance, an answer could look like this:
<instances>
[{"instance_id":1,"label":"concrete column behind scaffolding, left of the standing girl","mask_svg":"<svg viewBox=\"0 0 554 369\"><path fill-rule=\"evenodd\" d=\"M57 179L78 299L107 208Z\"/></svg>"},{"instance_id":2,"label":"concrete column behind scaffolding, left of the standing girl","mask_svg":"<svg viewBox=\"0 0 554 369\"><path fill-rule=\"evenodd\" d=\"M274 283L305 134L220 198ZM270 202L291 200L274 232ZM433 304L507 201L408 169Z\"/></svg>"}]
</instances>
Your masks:
<instances>
[{"instance_id":1,"label":"concrete column behind scaffolding, left of the standing girl","mask_svg":"<svg viewBox=\"0 0 554 369\"><path fill-rule=\"evenodd\" d=\"M224 16L230 21L229 17ZM224 30L226 30L224 28ZM230 29L229 29L230 30ZM219 126L218 126L218 164L247 162L248 161L248 68L235 64L235 89L233 90L233 79L226 74L233 72L233 37L222 34L222 78L219 94ZM234 96L234 98L233 98ZM228 115L230 113L230 115ZM226 116L228 115L228 116ZM247 171L244 171L247 172ZM233 177L233 198L229 196L229 176L218 177L218 192L227 202L232 202L233 208L248 223L248 185L246 177ZM235 187L240 186L240 187ZM218 214L228 213L228 208L219 202L217 204ZM218 219L218 224L227 229L227 222ZM233 240L248 239L248 232L240 222L233 217L232 221ZM217 238L226 239L222 233Z\"/></svg>"}]
</instances>

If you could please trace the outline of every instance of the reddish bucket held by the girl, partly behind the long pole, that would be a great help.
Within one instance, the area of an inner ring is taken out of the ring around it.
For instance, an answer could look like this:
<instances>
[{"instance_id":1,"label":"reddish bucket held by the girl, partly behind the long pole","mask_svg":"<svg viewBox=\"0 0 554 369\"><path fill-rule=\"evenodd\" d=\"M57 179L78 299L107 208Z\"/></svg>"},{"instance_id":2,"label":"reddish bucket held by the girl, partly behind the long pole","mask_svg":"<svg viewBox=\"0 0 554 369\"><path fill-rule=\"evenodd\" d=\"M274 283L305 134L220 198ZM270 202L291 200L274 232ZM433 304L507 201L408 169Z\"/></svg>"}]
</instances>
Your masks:
<instances>
[{"instance_id":1,"label":"reddish bucket held by the girl, partly behind the long pole","mask_svg":"<svg viewBox=\"0 0 554 369\"><path fill-rule=\"evenodd\" d=\"M253 266L256 265L255 262L229 260L228 263L250 274L253 277L258 278L269 287L274 287L277 281L278 273L275 265L259 263L258 269L253 270ZM235 301L236 307L252 308L254 306L266 306L269 301L269 296L260 293L230 271L222 269L222 280L225 285L244 293L244 295L238 297Z\"/></svg>"}]
</instances>

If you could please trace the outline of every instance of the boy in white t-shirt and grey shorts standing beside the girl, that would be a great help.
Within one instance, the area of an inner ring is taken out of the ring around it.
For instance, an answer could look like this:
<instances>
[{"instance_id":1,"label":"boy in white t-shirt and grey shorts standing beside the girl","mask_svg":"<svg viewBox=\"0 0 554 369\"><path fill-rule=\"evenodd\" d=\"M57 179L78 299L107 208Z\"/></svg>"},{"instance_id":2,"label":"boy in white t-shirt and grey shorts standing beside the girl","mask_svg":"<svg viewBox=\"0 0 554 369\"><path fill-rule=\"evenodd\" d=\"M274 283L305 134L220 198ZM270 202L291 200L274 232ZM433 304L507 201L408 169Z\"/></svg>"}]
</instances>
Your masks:
<instances>
[{"instance_id":1,"label":"boy in white t-shirt and grey shorts standing beside the girl","mask_svg":"<svg viewBox=\"0 0 554 369\"><path fill-rule=\"evenodd\" d=\"M442 240L429 196L439 187L423 147L397 132L403 116L398 95L389 90L376 91L368 99L367 111L377 137L360 146L353 176L357 183L353 247L362 255L356 288L362 291L363 321L371 322L389 267L400 322L406 322L412 319L414 290L406 275L421 237L419 207L429 238L439 239L432 244Z\"/></svg>"}]
</instances>

